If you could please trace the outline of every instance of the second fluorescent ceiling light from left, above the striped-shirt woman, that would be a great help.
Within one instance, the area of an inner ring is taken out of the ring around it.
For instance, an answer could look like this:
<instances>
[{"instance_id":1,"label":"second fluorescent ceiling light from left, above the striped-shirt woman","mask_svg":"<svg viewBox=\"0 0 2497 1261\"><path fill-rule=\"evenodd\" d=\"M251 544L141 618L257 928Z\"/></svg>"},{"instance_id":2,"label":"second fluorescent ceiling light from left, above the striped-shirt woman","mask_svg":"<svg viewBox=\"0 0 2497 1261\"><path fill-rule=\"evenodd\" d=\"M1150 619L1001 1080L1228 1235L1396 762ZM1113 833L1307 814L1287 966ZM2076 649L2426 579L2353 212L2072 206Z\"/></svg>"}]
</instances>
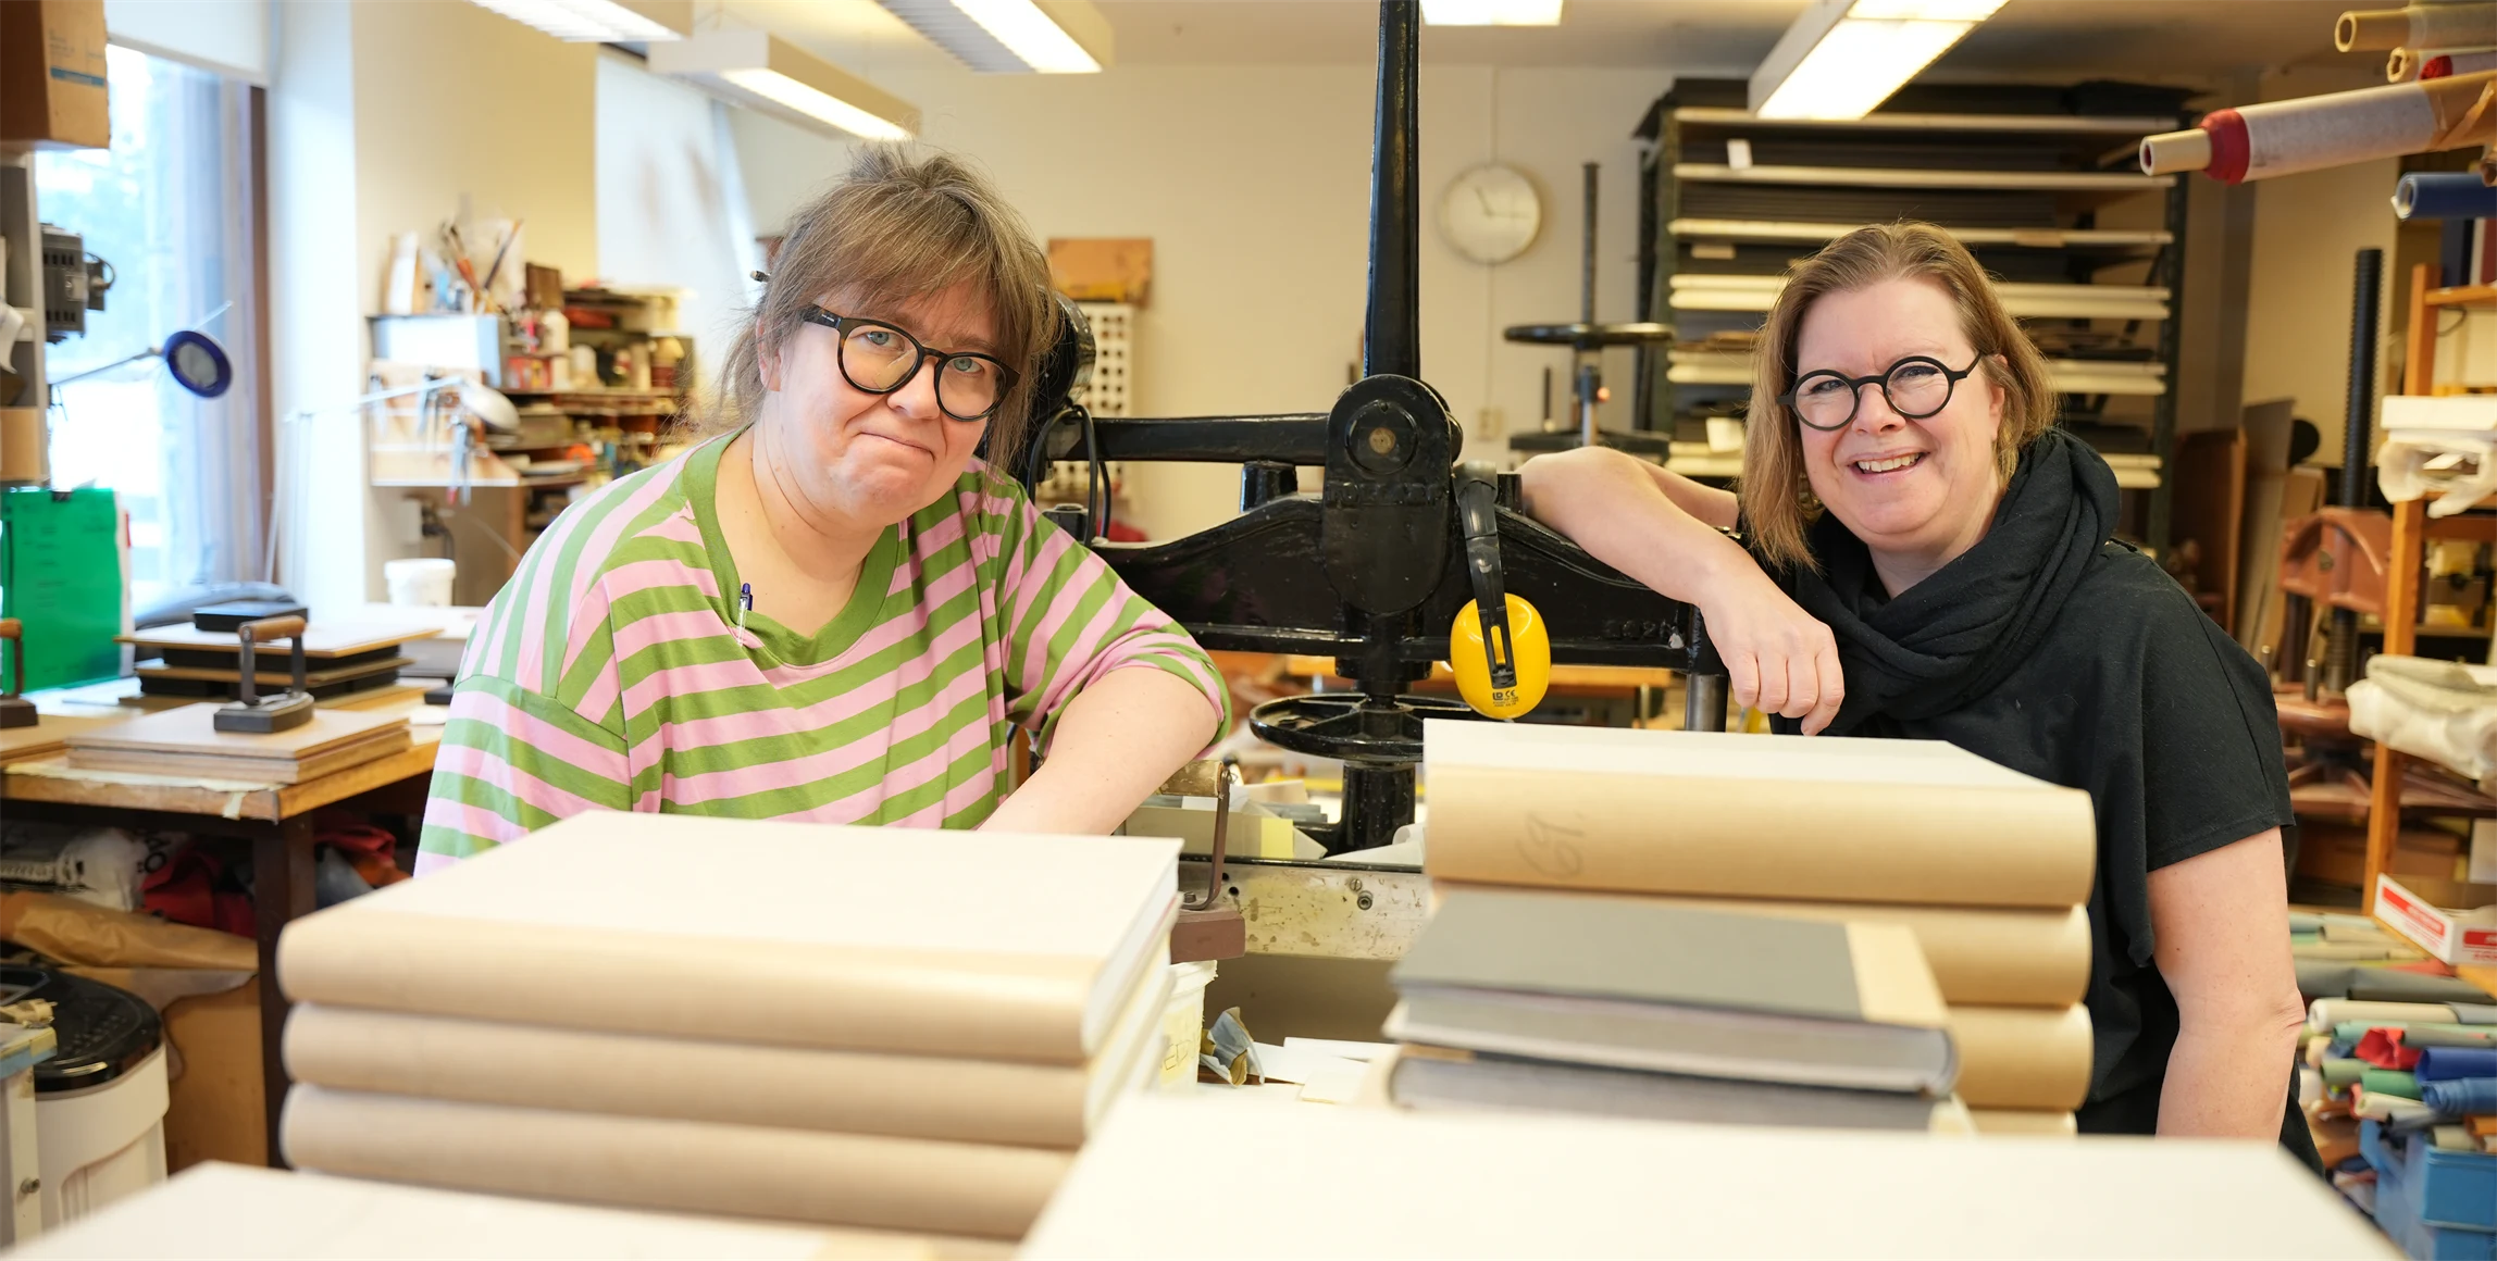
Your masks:
<instances>
[{"instance_id":1,"label":"second fluorescent ceiling light from left, above the striped-shirt woman","mask_svg":"<svg viewBox=\"0 0 2497 1261\"><path fill-rule=\"evenodd\" d=\"M767 30L707 30L692 40L652 45L649 67L802 127L836 127L864 140L909 140L919 132L916 105Z\"/></svg>"}]
</instances>

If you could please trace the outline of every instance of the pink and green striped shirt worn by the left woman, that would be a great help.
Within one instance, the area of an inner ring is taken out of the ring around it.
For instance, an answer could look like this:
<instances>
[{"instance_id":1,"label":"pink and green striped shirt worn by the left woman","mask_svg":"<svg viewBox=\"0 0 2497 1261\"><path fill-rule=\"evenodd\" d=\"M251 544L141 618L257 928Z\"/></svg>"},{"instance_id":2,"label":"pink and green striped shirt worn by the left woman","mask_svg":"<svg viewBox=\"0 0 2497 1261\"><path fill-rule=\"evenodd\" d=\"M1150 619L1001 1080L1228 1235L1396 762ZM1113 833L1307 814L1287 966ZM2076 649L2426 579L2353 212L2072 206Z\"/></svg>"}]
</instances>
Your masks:
<instances>
[{"instance_id":1,"label":"pink and green striped shirt worn by the left woman","mask_svg":"<svg viewBox=\"0 0 2497 1261\"><path fill-rule=\"evenodd\" d=\"M419 871L584 809L976 827L1009 729L1046 742L1114 669L1171 672L1226 712L1204 649L986 464L884 532L819 634L739 627L724 447L564 509L477 619Z\"/></svg>"}]
</instances>

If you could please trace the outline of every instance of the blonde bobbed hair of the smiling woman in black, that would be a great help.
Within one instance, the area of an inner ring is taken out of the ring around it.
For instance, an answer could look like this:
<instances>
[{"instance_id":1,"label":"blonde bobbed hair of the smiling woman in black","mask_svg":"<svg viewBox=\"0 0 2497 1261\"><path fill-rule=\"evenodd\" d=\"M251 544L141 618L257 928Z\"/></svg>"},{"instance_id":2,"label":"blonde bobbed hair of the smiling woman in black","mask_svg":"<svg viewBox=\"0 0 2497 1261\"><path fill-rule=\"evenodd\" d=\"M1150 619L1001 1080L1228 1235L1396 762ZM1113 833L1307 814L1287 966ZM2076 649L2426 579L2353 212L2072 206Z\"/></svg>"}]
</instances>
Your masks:
<instances>
[{"instance_id":1,"label":"blonde bobbed hair of the smiling woman in black","mask_svg":"<svg viewBox=\"0 0 2497 1261\"><path fill-rule=\"evenodd\" d=\"M1825 295L1855 292L1885 280L1925 280L1960 307L1960 332L1978 352L1983 372L2003 387L2003 429L1995 467L2010 477L2020 452L2055 427L2055 392L2045 355L2003 310L1985 267L1965 245L1930 222L1880 222L1833 240L1785 272L1785 290L1768 310L1753 347L1750 415L1743 422L1743 524L1760 559L1778 567L1815 567L1805 529L1818 514L1803 477L1803 434L1793 407L1778 402L1795 387L1795 337L1803 312Z\"/></svg>"}]
</instances>

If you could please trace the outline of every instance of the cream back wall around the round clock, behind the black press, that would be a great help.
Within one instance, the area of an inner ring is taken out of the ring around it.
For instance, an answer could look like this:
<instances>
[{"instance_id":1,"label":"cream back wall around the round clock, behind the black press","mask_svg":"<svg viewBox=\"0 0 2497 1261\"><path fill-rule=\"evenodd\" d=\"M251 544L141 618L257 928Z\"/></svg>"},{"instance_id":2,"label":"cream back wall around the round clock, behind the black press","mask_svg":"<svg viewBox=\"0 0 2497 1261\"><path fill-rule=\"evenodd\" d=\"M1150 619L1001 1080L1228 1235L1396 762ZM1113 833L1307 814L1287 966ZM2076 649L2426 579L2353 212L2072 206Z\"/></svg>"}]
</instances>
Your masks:
<instances>
[{"instance_id":1,"label":"cream back wall around the round clock, behind the black press","mask_svg":"<svg viewBox=\"0 0 2497 1261\"><path fill-rule=\"evenodd\" d=\"M1323 412L1358 360L1368 272L1376 70L1121 67L1109 75L976 77L901 65L879 87L916 102L929 145L979 160L1036 237L1154 237L1151 307L1136 330L1136 415ZM1578 317L1581 162L1603 162L1601 320L1636 312L1638 162L1631 127L1670 77L1648 70L1423 67L1423 377L1501 452L1541 420L1543 367L1566 352L1501 330ZM759 230L846 165L846 145L762 115L734 117ZM1543 190L1543 235L1501 267L1466 262L1436 227L1438 192L1503 160ZM1631 424L1631 355L1613 352L1608 427ZM1236 507L1239 469L1131 469L1136 524L1176 537Z\"/></svg>"}]
</instances>

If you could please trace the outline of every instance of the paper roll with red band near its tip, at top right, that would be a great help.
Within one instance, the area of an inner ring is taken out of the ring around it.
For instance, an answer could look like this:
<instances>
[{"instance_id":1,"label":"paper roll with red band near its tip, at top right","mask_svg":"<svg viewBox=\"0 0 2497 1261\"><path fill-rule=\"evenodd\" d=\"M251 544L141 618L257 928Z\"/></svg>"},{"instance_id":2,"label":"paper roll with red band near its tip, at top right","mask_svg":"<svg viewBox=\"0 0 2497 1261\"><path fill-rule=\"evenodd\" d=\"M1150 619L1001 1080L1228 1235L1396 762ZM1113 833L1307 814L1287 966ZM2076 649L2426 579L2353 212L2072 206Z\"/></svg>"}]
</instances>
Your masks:
<instances>
[{"instance_id":1,"label":"paper roll with red band near its tip, at top right","mask_svg":"<svg viewBox=\"0 0 2497 1261\"><path fill-rule=\"evenodd\" d=\"M2142 170L2200 170L2222 185L2237 185L2372 157L2485 145L2497 140L2497 110L2485 100L2492 85L2497 70L2212 110L2192 130L2142 140Z\"/></svg>"}]
</instances>

